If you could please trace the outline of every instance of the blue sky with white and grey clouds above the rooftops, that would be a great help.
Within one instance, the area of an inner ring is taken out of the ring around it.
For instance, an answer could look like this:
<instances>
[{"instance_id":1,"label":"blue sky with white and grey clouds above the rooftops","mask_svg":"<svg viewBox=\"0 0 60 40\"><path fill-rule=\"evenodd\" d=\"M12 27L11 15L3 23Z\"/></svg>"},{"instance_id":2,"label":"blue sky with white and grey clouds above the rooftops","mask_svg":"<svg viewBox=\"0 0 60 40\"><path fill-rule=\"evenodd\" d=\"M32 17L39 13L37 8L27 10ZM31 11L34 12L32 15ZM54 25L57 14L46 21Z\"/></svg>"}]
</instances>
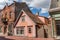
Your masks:
<instances>
[{"instance_id":1,"label":"blue sky with white and grey clouds above the rooftops","mask_svg":"<svg viewBox=\"0 0 60 40\"><path fill-rule=\"evenodd\" d=\"M40 16L48 17L48 9L50 7L51 0L15 0L17 2L26 2L28 6L30 7L30 10L33 12L33 14L36 14L37 12L40 13ZM13 0L0 0L0 9L2 9L7 2L8 4L13 3Z\"/></svg>"}]
</instances>

